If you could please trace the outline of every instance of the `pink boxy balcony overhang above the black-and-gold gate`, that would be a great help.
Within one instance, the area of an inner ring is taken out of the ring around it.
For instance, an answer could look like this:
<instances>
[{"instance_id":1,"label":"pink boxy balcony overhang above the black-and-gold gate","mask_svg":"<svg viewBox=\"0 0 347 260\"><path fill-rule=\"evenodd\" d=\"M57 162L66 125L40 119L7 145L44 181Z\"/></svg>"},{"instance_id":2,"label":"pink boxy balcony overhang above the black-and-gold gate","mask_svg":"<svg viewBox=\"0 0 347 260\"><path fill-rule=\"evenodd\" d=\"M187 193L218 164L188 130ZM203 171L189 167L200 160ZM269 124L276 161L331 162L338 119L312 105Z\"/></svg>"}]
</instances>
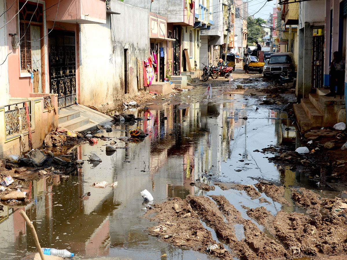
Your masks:
<instances>
[{"instance_id":1,"label":"pink boxy balcony overhang above the black-and-gold gate","mask_svg":"<svg viewBox=\"0 0 347 260\"><path fill-rule=\"evenodd\" d=\"M47 21L74 24L106 23L106 0L46 0L46 9Z\"/></svg>"}]
</instances>

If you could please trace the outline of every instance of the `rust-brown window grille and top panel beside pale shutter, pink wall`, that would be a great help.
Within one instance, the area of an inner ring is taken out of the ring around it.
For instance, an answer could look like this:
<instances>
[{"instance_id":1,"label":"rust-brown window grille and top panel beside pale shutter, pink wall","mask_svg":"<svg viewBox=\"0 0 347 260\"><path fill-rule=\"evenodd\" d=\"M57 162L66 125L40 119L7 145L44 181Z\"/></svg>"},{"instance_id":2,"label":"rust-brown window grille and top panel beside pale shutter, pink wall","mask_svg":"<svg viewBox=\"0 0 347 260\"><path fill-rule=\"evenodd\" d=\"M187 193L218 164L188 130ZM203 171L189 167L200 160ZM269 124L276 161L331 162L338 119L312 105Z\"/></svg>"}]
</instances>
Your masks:
<instances>
[{"instance_id":1,"label":"rust-brown window grille and top panel beside pale shutter, pink wall","mask_svg":"<svg viewBox=\"0 0 347 260\"><path fill-rule=\"evenodd\" d=\"M19 2L19 9L20 69L27 71L32 68L30 25L42 24L43 6Z\"/></svg>"}]
</instances>

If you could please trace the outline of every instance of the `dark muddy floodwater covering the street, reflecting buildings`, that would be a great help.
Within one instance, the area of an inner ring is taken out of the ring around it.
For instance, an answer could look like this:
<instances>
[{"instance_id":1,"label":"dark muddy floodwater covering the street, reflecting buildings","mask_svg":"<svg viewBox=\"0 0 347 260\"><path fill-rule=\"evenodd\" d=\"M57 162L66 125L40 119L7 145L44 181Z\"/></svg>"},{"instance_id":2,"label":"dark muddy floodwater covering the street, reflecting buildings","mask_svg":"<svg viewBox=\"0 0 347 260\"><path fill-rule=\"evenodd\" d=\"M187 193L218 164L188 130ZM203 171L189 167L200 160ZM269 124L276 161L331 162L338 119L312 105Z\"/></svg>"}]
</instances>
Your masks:
<instances>
[{"instance_id":1,"label":"dark muddy floodwater covering the street, reflecting buildings","mask_svg":"<svg viewBox=\"0 0 347 260\"><path fill-rule=\"evenodd\" d=\"M294 203L282 206L264 193L262 197L270 204L260 204L244 191L223 191L215 186L215 190L207 192L190 185L192 182L213 185L216 181L255 184L258 179L266 179L284 185L288 201L291 201L291 187L320 192L316 183L299 172L269 163L267 157L272 157L271 154L254 151L269 145L298 145L296 129L286 113L255 105L255 98L241 95L213 93L207 102L205 91L206 87L196 87L160 105L154 100L155 104L132 111L135 116L150 120L135 125L114 125L112 132L98 133L116 141L113 146L126 149L106 154L105 145L109 145L110 140L100 139L94 146L82 144L73 148L78 159L86 160L94 151L101 157L101 163L86 161L77 170L67 170L68 179L57 176L19 182L27 187L31 202L25 211L33 221L41 246L67 249L80 259L213 259L203 253L175 248L148 235L145 229L153 223L142 218L146 205L140 191L144 189L151 192L154 202L185 198L189 194L223 195L245 219L250 218L241 205L265 206L274 215L281 209L301 212ZM137 126L149 134L144 140L118 139L129 136L129 129ZM118 187L91 186L101 181L118 181ZM91 196L82 200L80 196L86 192L91 192ZM325 197L338 195L322 192ZM4 207L0 211L2 260L22 259L36 251L20 209L24 208ZM213 239L219 241L214 230L206 223L203 225L211 231ZM242 225L235 225L235 233L239 240L244 238Z\"/></svg>"}]
</instances>

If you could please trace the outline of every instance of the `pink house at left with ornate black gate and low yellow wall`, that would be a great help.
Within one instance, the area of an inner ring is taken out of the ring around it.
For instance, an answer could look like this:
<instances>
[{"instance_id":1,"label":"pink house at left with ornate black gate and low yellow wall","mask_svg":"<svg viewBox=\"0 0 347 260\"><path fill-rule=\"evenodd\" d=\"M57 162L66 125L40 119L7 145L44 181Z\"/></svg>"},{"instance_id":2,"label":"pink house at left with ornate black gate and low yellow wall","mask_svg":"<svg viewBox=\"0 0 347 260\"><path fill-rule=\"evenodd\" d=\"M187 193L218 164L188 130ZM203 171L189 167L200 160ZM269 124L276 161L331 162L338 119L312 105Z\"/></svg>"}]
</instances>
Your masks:
<instances>
[{"instance_id":1,"label":"pink house at left with ornate black gate and low yellow wall","mask_svg":"<svg viewBox=\"0 0 347 260\"><path fill-rule=\"evenodd\" d=\"M59 107L80 101L78 25L105 23L105 5L105 0L0 1L0 10L7 10L0 18L1 156L41 146L58 126Z\"/></svg>"}]
</instances>

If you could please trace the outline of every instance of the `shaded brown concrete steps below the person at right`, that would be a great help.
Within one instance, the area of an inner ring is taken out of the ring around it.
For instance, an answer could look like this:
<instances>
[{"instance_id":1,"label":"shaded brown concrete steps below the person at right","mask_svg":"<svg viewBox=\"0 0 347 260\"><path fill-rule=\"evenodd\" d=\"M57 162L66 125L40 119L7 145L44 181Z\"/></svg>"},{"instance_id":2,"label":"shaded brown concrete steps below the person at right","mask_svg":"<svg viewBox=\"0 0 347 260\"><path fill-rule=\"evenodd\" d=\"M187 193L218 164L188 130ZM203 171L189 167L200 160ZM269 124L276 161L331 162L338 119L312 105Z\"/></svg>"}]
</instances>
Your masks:
<instances>
[{"instance_id":1,"label":"shaded brown concrete steps below the person at right","mask_svg":"<svg viewBox=\"0 0 347 260\"><path fill-rule=\"evenodd\" d=\"M294 114L301 132L313 127L332 127L338 122L345 122L345 99L342 96L326 97L328 89L316 89L316 93L302 98L300 104L294 104Z\"/></svg>"}]
</instances>

